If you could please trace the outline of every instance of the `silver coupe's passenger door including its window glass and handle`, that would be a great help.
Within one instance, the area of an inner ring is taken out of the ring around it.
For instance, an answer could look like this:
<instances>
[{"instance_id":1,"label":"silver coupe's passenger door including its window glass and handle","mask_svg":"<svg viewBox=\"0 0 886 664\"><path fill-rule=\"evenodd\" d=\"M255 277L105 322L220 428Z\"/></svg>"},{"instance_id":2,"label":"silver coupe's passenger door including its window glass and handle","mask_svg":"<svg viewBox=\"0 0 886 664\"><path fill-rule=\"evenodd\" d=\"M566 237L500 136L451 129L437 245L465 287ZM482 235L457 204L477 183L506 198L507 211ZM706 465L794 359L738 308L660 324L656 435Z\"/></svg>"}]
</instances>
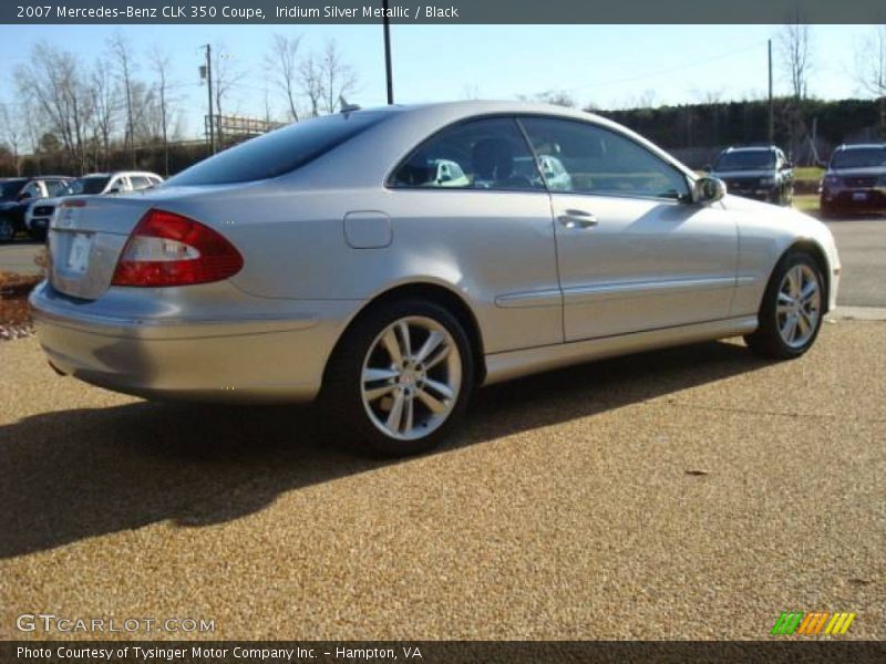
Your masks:
<instances>
[{"instance_id":1,"label":"silver coupe's passenger door including its window glass and handle","mask_svg":"<svg viewBox=\"0 0 886 664\"><path fill-rule=\"evenodd\" d=\"M550 188L566 341L729 317L738 229L720 204L691 203L687 176L595 123L521 118ZM565 184L565 186L564 186Z\"/></svg>"}]
</instances>

